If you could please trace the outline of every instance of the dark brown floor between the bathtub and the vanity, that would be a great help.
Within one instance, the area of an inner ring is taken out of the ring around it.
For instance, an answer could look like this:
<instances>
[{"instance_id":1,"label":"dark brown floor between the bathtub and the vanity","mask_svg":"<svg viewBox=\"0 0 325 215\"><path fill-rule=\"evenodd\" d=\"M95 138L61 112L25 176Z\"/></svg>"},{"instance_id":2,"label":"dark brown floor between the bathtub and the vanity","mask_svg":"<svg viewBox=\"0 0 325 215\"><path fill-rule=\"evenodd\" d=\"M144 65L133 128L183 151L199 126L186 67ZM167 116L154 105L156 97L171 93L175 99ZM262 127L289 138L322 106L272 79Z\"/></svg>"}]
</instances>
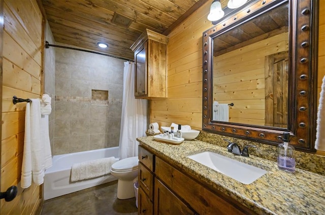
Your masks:
<instances>
[{"instance_id":1,"label":"dark brown floor between the bathtub and the vanity","mask_svg":"<svg viewBox=\"0 0 325 215\"><path fill-rule=\"evenodd\" d=\"M138 214L136 198L118 199L117 181L46 200L41 215Z\"/></svg>"}]
</instances>

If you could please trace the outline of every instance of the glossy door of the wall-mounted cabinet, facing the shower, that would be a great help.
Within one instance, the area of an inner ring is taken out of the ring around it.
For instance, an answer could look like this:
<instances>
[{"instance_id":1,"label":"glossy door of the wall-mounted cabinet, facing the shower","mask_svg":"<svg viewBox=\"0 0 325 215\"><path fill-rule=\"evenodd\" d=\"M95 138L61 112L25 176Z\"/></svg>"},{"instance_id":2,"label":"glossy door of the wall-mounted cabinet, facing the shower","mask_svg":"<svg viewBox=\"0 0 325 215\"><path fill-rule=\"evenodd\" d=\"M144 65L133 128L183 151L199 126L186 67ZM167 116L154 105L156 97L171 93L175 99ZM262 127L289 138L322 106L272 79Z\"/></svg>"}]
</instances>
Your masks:
<instances>
[{"instance_id":1,"label":"glossy door of the wall-mounted cabinet, facing the shower","mask_svg":"<svg viewBox=\"0 0 325 215\"><path fill-rule=\"evenodd\" d=\"M142 97L147 92L147 42L144 42L135 52L135 96Z\"/></svg>"}]
</instances>

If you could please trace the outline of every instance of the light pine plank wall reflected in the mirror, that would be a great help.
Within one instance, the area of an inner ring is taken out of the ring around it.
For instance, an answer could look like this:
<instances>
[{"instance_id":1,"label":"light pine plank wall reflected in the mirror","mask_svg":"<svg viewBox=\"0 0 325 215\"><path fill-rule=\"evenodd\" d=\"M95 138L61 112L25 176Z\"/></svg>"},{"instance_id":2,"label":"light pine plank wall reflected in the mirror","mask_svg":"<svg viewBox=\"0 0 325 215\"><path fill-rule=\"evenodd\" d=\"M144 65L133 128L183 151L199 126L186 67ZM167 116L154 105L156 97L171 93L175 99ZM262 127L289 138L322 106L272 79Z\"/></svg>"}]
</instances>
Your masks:
<instances>
[{"instance_id":1,"label":"light pine plank wall reflected in the mirror","mask_svg":"<svg viewBox=\"0 0 325 215\"><path fill-rule=\"evenodd\" d=\"M230 122L265 125L265 57L287 51L288 38L282 33L214 57L213 101L234 103Z\"/></svg>"}]
</instances>

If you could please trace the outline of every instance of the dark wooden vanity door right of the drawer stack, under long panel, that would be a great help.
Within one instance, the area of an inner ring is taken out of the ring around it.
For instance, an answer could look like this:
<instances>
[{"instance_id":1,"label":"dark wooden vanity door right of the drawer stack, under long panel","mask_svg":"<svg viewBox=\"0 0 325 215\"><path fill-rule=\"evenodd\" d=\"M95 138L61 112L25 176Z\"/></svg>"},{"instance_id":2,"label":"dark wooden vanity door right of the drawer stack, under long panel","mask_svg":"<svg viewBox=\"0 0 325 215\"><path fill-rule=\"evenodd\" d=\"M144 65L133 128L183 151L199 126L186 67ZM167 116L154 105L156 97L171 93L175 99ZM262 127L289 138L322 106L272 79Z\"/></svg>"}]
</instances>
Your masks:
<instances>
[{"instance_id":1,"label":"dark wooden vanity door right of the drawer stack, under long panel","mask_svg":"<svg viewBox=\"0 0 325 215\"><path fill-rule=\"evenodd\" d=\"M157 179L154 195L154 214L196 214Z\"/></svg>"}]
</instances>

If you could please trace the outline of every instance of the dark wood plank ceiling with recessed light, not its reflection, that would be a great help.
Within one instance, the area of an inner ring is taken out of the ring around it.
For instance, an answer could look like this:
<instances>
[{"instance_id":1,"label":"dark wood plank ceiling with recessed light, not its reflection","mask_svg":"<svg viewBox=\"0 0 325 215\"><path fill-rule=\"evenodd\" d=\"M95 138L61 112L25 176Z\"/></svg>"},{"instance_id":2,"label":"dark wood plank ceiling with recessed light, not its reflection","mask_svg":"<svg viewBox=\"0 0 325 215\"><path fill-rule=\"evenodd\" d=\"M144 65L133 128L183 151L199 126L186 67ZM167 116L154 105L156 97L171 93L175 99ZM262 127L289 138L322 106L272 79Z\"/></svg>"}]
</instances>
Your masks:
<instances>
[{"instance_id":1,"label":"dark wood plank ceiling with recessed light, not its reflection","mask_svg":"<svg viewBox=\"0 0 325 215\"><path fill-rule=\"evenodd\" d=\"M56 42L133 60L129 48L146 28L167 35L207 1L42 0L42 5ZM100 41L109 48L98 48Z\"/></svg>"}]
</instances>

